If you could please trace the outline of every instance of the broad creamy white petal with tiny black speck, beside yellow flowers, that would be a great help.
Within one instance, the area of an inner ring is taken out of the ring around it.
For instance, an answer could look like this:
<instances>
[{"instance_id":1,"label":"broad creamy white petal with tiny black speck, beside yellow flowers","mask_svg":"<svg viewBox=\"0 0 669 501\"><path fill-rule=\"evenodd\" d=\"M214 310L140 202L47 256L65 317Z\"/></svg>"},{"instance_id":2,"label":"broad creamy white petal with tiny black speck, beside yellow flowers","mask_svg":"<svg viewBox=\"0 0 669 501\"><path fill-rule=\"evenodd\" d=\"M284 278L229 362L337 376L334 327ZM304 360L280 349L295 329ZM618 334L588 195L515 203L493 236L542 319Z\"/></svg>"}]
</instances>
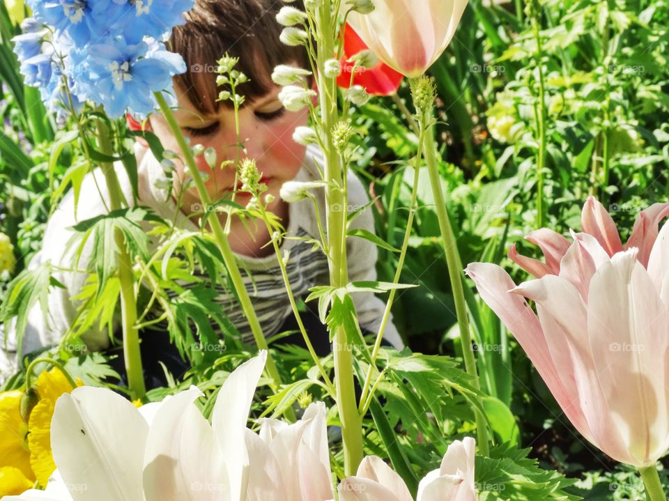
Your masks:
<instances>
[{"instance_id":1,"label":"broad creamy white petal with tiny black speck, beside yellow flowers","mask_svg":"<svg viewBox=\"0 0 669 501\"><path fill-rule=\"evenodd\" d=\"M82 386L56 401L51 423L54 461L72 498L141 500L148 424L137 408L107 388ZM85 488L84 488L85 486Z\"/></svg>"}]
</instances>

